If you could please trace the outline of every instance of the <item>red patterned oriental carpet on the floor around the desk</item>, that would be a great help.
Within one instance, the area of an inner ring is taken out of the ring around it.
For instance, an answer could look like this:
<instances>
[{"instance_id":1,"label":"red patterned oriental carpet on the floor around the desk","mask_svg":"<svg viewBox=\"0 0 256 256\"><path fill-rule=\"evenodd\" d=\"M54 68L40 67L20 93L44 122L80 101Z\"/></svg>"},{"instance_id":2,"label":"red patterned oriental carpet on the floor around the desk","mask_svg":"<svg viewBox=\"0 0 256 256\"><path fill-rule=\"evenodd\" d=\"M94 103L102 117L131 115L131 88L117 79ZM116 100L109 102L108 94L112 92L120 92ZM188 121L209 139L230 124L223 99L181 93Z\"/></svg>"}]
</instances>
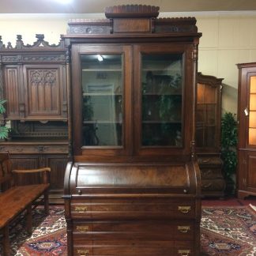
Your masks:
<instances>
[{"instance_id":1,"label":"red patterned oriental carpet on the floor around the desk","mask_svg":"<svg viewBox=\"0 0 256 256\"><path fill-rule=\"evenodd\" d=\"M22 222L12 229L12 255L66 255L66 223L62 207L51 207L50 216L44 216L42 209L34 210L33 215L31 237L24 231ZM201 255L256 255L256 212L250 206L204 206Z\"/></svg>"}]
</instances>

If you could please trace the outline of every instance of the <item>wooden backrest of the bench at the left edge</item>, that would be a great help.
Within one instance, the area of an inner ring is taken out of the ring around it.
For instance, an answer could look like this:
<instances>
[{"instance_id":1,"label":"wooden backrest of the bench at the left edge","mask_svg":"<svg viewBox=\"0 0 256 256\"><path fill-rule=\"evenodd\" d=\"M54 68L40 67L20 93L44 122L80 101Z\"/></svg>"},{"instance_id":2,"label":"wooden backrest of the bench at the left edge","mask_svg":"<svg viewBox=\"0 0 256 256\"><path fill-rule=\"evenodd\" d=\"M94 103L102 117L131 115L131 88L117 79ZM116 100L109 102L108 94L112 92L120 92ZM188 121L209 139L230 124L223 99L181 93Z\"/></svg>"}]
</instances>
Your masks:
<instances>
[{"instance_id":1,"label":"wooden backrest of the bench at the left edge","mask_svg":"<svg viewBox=\"0 0 256 256\"><path fill-rule=\"evenodd\" d=\"M12 163L8 152L0 153L0 185L1 190L13 185Z\"/></svg>"}]
</instances>

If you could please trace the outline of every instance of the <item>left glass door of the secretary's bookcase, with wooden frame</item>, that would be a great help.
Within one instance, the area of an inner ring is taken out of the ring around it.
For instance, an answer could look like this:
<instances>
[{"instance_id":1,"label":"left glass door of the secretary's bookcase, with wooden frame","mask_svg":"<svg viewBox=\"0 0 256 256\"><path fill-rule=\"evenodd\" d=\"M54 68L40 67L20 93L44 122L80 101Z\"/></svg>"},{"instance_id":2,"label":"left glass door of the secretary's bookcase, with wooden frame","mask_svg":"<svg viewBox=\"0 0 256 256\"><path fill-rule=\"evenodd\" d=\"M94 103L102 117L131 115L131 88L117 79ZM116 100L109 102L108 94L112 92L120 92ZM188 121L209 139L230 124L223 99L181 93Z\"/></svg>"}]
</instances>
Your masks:
<instances>
[{"instance_id":1,"label":"left glass door of the secretary's bookcase, with wooden frame","mask_svg":"<svg viewBox=\"0 0 256 256\"><path fill-rule=\"evenodd\" d=\"M73 150L83 160L125 156L131 148L131 47L72 46Z\"/></svg>"}]
</instances>

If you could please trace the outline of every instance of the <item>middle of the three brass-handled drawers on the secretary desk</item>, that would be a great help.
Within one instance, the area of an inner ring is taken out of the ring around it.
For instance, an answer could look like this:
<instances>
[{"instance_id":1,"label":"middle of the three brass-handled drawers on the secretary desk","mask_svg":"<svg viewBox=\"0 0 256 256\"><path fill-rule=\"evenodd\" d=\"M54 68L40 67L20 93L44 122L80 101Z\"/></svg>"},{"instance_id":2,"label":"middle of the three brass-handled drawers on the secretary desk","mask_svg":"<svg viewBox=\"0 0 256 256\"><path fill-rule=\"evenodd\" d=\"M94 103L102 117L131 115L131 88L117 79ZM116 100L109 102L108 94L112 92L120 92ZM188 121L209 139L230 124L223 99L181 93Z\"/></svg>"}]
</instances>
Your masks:
<instances>
[{"instance_id":1,"label":"middle of the three brass-handled drawers on the secretary desk","mask_svg":"<svg viewBox=\"0 0 256 256\"><path fill-rule=\"evenodd\" d=\"M194 222L178 220L74 222L73 240L185 240L194 237Z\"/></svg>"}]
</instances>

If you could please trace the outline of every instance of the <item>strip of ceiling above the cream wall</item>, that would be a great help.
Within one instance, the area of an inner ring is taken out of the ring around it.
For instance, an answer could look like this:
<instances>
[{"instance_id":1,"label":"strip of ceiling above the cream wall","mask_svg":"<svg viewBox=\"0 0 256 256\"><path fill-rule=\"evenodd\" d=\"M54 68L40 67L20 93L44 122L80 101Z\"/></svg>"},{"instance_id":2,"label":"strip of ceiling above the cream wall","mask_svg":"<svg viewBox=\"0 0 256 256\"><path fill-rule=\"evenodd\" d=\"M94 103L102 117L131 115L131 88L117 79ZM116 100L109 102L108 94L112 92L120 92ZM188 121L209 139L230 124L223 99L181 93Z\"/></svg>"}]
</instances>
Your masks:
<instances>
[{"instance_id":1,"label":"strip of ceiling above the cream wall","mask_svg":"<svg viewBox=\"0 0 256 256\"><path fill-rule=\"evenodd\" d=\"M256 0L0 0L0 13L104 13L126 4L160 6L160 12L256 10Z\"/></svg>"}]
</instances>

